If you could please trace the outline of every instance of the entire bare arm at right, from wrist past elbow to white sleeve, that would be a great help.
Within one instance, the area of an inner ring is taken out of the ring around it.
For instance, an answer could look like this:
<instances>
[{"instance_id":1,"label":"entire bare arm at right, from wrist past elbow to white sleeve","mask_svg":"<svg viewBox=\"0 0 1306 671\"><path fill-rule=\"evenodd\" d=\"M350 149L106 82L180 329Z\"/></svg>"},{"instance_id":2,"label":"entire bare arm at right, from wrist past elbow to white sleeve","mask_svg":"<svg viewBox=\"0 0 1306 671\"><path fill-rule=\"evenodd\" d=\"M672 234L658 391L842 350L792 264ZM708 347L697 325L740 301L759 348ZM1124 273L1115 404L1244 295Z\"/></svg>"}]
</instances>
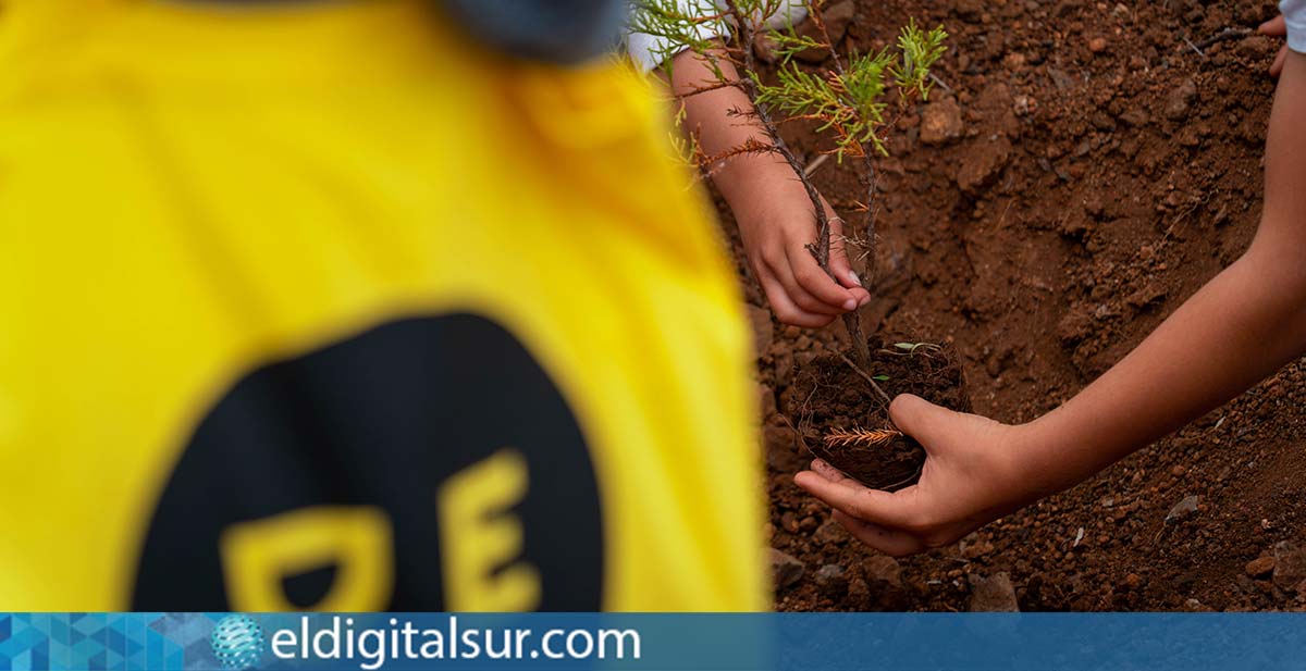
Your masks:
<instances>
[{"instance_id":1,"label":"entire bare arm at right, from wrist past elbow to white sleeve","mask_svg":"<svg viewBox=\"0 0 1306 671\"><path fill-rule=\"evenodd\" d=\"M1088 478L1306 352L1302 119L1306 56L1293 55L1271 115L1255 242L1101 379L1019 427L1016 470L1037 493Z\"/></svg>"}]
</instances>

